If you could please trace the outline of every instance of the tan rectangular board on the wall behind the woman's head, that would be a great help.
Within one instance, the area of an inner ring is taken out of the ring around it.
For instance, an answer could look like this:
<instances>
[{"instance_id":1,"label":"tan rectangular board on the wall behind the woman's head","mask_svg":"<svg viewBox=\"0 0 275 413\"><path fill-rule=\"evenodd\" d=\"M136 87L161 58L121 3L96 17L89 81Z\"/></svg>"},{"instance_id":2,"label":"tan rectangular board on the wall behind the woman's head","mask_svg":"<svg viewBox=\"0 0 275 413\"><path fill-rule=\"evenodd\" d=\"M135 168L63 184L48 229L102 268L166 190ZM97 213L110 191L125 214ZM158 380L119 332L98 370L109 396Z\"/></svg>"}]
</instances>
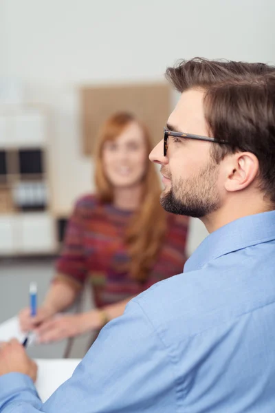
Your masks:
<instances>
[{"instance_id":1,"label":"tan rectangular board on the wall behind the woman's head","mask_svg":"<svg viewBox=\"0 0 275 413\"><path fill-rule=\"evenodd\" d=\"M80 101L85 155L94 152L102 123L120 111L135 114L148 127L153 142L159 142L170 114L170 91L166 83L82 87Z\"/></svg>"}]
</instances>

